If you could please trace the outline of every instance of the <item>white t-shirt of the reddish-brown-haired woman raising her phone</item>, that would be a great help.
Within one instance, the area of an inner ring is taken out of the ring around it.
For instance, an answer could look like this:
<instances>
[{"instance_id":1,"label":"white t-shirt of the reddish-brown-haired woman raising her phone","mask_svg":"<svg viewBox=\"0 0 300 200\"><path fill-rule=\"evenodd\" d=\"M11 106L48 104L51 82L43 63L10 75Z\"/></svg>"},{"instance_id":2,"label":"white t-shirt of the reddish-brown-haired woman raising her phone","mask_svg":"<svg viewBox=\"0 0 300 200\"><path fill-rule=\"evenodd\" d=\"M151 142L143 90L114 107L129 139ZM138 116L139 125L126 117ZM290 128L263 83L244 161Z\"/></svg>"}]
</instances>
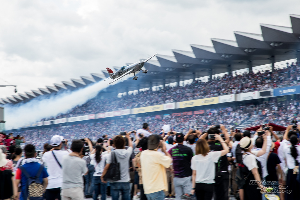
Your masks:
<instances>
[{"instance_id":1,"label":"white t-shirt of the reddish-brown-haired woman raising her phone","mask_svg":"<svg viewBox=\"0 0 300 200\"><path fill-rule=\"evenodd\" d=\"M202 154L192 157L192 170L196 170L196 183L215 183L216 164L221 156L221 151L211 151L206 156Z\"/></svg>"}]
</instances>

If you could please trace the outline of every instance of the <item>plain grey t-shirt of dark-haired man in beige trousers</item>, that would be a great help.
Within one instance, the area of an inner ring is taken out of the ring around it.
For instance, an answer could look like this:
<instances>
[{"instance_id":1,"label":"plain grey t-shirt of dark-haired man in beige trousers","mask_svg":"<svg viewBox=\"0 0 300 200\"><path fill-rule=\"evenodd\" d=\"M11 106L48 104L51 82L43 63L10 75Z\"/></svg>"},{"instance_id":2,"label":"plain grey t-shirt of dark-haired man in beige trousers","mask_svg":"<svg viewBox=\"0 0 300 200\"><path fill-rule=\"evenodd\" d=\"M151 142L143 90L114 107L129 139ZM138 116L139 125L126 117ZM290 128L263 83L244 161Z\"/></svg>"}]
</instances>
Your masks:
<instances>
[{"instance_id":1,"label":"plain grey t-shirt of dark-haired man in beige trousers","mask_svg":"<svg viewBox=\"0 0 300 200\"><path fill-rule=\"evenodd\" d=\"M88 169L86 168L85 160L77 156L64 155L62 157L62 186L61 189L82 187L83 177Z\"/></svg>"}]
</instances>

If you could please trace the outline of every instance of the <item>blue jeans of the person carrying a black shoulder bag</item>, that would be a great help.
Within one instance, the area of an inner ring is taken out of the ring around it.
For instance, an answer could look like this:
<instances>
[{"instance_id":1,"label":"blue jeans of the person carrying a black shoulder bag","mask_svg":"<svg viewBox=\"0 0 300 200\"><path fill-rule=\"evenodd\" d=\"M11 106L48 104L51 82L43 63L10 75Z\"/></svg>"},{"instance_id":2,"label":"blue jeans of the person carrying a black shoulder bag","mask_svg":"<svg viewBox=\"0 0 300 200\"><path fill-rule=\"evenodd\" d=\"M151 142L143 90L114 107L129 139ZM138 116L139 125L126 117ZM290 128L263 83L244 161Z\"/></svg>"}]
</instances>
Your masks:
<instances>
[{"instance_id":1,"label":"blue jeans of the person carrying a black shoulder bag","mask_svg":"<svg viewBox=\"0 0 300 200\"><path fill-rule=\"evenodd\" d=\"M119 193L122 193L122 200L129 200L129 182L110 183L111 196L113 200L119 200Z\"/></svg>"}]
</instances>

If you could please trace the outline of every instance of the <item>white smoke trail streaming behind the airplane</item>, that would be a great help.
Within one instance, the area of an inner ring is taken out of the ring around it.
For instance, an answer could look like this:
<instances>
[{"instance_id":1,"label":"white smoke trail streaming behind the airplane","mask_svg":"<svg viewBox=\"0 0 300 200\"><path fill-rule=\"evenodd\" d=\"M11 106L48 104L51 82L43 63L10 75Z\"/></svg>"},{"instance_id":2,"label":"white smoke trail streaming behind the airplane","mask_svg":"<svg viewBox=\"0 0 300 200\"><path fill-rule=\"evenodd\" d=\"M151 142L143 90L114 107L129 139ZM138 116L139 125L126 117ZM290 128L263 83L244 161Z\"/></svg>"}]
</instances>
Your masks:
<instances>
[{"instance_id":1,"label":"white smoke trail streaming behind the airplane","mask_svg":"<svg viewBox=\"0 0 300 200\"><path fill-rule=\"evenodd\" d=\"M110 85L114 85L130 77L128 75ZM5 129L16 129L26 124L40 121L43 118L57 116L59 113L66 113L75 106L82 105L89 99L96 97L99 91L109 86L107 85L109 82L110 79L105 82L100 81L76 91L58 93L58 95L50 96L47 99L32 99L28 103L20 104L20 106L18 104L13 106L7 105L4 108Z\"/></svg>"}]
</instances>

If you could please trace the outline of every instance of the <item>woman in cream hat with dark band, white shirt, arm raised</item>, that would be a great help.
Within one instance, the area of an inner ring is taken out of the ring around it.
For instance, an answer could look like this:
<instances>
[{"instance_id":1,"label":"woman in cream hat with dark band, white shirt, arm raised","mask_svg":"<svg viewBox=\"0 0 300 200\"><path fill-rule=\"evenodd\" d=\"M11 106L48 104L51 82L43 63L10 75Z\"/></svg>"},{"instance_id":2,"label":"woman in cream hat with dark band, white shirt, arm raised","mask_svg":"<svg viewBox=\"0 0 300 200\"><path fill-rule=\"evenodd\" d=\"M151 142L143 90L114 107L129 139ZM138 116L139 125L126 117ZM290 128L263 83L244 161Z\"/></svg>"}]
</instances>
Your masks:
<instances>
[{"instance_id":1,"label":"woman in cream hat with dark band, white shirt, arm raised","mask_svg":"<svg viewBox=\"0 0 300 200\"><path fill-rule=\"evenodd\" d=\"M244 174L248 178L246 179L246 183L244 184L244 200L259 200L262 199L262 194L260 193L260 189L263 189L262 185L250 184L250 181L262 181L262 167L260 165L257 157L265 154L267 148L267 139L266 134L262 135L263 145L262 150L260 151L251 151L253 144L252 140L249 137L243 137L240 140L240 147L244 151L243 154L243 164L245 168L241 168L241 170L247 170Z\"/></svg>"}]
</instances>

